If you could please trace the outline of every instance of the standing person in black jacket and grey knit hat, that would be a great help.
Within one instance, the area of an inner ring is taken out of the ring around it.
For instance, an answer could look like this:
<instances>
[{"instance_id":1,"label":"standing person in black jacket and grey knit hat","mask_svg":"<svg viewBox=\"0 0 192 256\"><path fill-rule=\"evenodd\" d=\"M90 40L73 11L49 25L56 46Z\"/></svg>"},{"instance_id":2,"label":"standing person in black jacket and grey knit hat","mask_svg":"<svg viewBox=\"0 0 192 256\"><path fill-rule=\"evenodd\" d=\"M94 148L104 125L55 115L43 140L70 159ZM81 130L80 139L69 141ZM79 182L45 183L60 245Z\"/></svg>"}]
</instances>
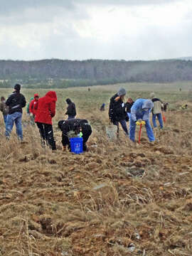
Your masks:
<instances>
[{"instance_id":1,"label":"standing person in black jacket and grey knit hat","mask_svg":"<svg viewBox=\"0 0 192 256\"><path fill-rule=\"evenodd\" d=\"M124 88L120 88L119 92L110 99L109 117L110 121L114 125L117 125L117 136L119 135L119 123L121 124L125 134L129 135L126 124L126 121L129 121L129 117L125 111L125 105L123 102L124 95L126 95L126 90L124 90Z\"/></svg>"}]
</instances>

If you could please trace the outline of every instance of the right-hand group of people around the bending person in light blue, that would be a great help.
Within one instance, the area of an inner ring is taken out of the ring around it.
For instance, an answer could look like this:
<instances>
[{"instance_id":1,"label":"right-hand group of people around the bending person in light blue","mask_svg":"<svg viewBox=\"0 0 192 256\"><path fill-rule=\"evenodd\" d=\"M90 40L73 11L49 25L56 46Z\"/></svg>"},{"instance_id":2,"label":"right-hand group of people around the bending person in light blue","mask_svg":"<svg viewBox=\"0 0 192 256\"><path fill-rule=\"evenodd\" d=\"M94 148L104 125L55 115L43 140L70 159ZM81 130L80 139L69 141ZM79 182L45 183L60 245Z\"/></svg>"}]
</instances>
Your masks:
<instances>
[{"instance_id":1,"label":"right-hand group of people around the bending person in light blue","mask_svg":"<svg viewBox=\"0 0 192 256\"><path fill-rule=\"evenodd\" d=\"M124 133L129 136L133 142L135 141L135 128L138 120L142 120L146 127L146 134L149 142L154 142L154 132L150 124L150 113L152 113L152 122L154 128L156 125L156 118L159 120L160 128L164 127L161 115L161 107L163 102L156 98L154 92L151 93L151 99L137 99L135 102L129 98L124 104L124 96L126 90L121 88L117 94L110 99L109 118L110 122L117 126L117 136L119 134L119 123L124 130ZM129 132L127 123L129 121Z\"/></svg>"}]
</instances>

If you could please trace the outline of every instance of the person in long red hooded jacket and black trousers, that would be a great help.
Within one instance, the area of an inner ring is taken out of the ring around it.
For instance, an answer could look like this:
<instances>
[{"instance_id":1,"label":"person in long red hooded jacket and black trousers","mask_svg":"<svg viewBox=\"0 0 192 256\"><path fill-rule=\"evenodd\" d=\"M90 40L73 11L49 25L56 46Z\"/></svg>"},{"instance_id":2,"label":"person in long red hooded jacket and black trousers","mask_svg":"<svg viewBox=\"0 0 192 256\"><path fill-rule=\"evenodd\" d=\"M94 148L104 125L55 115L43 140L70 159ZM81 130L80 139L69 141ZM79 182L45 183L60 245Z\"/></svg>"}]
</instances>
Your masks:
<instances>
[{"instance_id":1,"label":"person in long red hooded jacket and black trousers","mask_svg":"<svg viewBox=\"0 0 192 256\"><path fill-rule=\"evenodd\" d=\"M44 97L38 100L38 108L35 117L35 122L39 129L41 139L43 139L43 144L46 142L52 150L56 149L52 126L52 118L55 116L56 101L56 92L47 92Z\"/></svg>"}]
</instances>

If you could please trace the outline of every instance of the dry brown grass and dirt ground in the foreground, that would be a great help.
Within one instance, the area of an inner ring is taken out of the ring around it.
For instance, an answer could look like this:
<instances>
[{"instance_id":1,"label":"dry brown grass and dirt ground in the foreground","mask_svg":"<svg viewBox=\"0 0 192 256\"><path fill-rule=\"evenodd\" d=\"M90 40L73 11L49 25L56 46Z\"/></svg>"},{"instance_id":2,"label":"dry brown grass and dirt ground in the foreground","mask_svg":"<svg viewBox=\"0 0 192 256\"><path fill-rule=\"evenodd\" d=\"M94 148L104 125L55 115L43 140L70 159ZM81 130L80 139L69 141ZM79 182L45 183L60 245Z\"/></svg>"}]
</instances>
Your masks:
<instances>
[{"instance_id":1,"label":"dry brown grass and dirt ground in the foreground","mask_svg":"<svg viewBox=\"0 0 192 256\"><path fill-rule=\"evenodd\" d=\"M78 97L78 96L77 96ZM88 100L87 100L88 101ZM179 105L181 102L176 102ZM107 111L92 124L89 151L41 148L38 130L0 142L0 255L192 255L192 105L166 113L149 144L121 132L110 142ZM55 117L55 139L60 132ZM24 117L27 121L27 117ZM137 131L138 134L138 131Z\"/></svg>"}]
</instances>

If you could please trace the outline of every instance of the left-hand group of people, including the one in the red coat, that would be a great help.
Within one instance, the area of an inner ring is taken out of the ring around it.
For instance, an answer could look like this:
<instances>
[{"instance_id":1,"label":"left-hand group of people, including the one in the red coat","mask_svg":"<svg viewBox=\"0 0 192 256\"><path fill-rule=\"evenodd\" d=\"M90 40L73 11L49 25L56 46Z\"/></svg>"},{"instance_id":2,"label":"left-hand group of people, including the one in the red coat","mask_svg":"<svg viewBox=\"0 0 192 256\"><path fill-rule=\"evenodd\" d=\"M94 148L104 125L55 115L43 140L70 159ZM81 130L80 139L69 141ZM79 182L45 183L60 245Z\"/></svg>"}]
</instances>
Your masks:
<instances>
[{"instance_id":1,"label":"left-hand group of people, including the one in the red coat","mask_svg":"<svg viewBox=\"0 0 192 256\"><path fill-rule=\"evenodd\" d=\"M6 138L9 139L11 131L16 124L16 134L18 139L23 139L22 129L22 113L23 107L26 106L26 98L21 94L21 85L16 84L14 86L14 92L5 100L1 97L2 110L4 111L4 122L6 125ZM56 149L55 139L53 136L53 123L52 118L55 116L55 105L57 102L57 95L54 91L49 91L44 97L38 97L38 94L34 95L31 102L28 105L28 112L31 114L33 122L36 123L41 135L42 144L48 144L52 150ZM83 150L86 151L87 139L92 133L90 124L86 119L75 119L76 110L75 104L67 99L68 103L67 112L68 120L60 120L58 122L58 128L62 132L62 144L63 149L68 146L70 149L70 141L68 133L73 130L75 134L81 132L83 138Z\"/></svg>"}]
</instances>

